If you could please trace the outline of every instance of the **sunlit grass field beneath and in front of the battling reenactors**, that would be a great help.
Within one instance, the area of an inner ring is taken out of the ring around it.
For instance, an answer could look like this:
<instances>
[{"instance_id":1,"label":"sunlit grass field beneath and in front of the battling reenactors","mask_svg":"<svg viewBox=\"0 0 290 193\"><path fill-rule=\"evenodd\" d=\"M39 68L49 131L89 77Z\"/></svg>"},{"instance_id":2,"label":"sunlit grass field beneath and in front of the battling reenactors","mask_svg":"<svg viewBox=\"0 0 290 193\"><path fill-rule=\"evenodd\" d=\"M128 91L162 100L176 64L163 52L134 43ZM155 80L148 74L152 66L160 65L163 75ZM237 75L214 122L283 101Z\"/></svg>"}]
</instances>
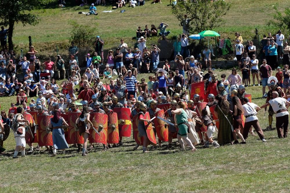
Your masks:
<instances>
[{"instance_id":1,"label":"sunlit grass field beneath and in front of the battling reenactors","mask_svg":"<svg viewBox=\"0 0 290 193\"><path fill-rule=\"evenodd\" d=\"M215 73L220 77L230 71ZM140 74L137 79L148 76ZM259 106L265 102L261 89L246 88ZM15 96L0 98L1 110L7 111L14 100ZM261 110L258 118L266 128L267 112L264 117ZM15 141L10 134L4 141L6 153L0 155L0 188L2 192L289 192L290 141L278 139L276 130L264 130L264 135L265 143L249 136L246 145L197 146L193 154L179 146L167 149L167 143L160 149L149 146L150 152L142 154L141 147L133 151L132 137L124 137L123 147L103 152L98 146L87 157L70 148L57 157L35 152L12 159Z\"/></svg>"}]
</instances>

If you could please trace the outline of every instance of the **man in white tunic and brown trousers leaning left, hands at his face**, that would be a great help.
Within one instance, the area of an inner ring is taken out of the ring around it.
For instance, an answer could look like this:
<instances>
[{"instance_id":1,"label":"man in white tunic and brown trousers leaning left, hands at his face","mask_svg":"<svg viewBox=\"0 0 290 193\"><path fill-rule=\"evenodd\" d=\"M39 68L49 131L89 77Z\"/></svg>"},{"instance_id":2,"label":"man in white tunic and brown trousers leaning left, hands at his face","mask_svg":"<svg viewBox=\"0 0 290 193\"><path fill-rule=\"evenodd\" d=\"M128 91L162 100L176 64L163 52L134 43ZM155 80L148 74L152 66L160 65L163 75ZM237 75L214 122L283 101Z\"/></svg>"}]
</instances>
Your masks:
<instances>
[{"instance_id":1,"label":"man in white tunic and brown trousers leaning left, hands at his face","mask_svg":"<svg viewBox=\"0 0 290 193\"><path fill-rule=\"evenodd\" d=\"M251 126L253 126L259 135L260 139L265 142L264 133L260 127L259 120L257 117L257 111L260 111L260 107L254 103L249 102L249 99L241 98L242 107L244 111L244 116L246 117L244 130L243 130L243 137L247 139L249 130Z\"/></svg>"}]
</instances>

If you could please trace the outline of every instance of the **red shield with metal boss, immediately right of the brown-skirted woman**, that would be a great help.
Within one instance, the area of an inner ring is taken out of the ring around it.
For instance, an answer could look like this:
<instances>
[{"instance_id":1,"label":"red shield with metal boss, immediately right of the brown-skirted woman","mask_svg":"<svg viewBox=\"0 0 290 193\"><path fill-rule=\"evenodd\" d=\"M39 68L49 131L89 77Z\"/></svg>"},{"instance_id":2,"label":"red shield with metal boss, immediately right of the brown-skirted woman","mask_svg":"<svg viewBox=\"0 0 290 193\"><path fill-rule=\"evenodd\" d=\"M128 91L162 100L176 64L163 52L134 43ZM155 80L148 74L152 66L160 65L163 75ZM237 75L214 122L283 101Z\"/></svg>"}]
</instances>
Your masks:
<instances>
[{"instance_id":1,"label":"red shield with metal boss, immediately right of the brown-skirted woman","mask_svg":"<svg viewBox=\"0 0 290 193\"><path fill-rule=\"evenodd\" d=\"M100 133L97 134L96 131L90 128L90 143L101 143L107 145L108 136L108 115L104 113L90 113L90 120L93 123L94 128Z\"/></svg>"}]
</instances>

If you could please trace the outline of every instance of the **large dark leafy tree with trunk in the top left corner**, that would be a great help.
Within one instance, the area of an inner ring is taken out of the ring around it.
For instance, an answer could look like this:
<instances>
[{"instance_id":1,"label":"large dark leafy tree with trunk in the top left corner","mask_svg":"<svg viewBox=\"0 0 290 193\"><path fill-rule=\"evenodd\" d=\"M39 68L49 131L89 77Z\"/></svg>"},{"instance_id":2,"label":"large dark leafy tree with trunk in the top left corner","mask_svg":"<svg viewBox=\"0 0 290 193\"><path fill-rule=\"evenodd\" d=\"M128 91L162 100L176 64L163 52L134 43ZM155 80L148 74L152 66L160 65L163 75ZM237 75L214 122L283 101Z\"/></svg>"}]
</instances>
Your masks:
<instances>
[{"instance_id":1,"label":"large dark leafy tree with trunk in the top left corner","mask_svg":"<svg viewBox=\"0 0 290 193\"><path fill-rule=\"evenodd\" d=\"M23 26L26 24L36 25L40 19L38 15L32 14L35 8L40 8L53 0L1 0L0 7L3 8L0 14L0 25L8 27L8 45L9 49L13 49L13 30L14 24L21 22Z\"/></svg>"}]
</instances>

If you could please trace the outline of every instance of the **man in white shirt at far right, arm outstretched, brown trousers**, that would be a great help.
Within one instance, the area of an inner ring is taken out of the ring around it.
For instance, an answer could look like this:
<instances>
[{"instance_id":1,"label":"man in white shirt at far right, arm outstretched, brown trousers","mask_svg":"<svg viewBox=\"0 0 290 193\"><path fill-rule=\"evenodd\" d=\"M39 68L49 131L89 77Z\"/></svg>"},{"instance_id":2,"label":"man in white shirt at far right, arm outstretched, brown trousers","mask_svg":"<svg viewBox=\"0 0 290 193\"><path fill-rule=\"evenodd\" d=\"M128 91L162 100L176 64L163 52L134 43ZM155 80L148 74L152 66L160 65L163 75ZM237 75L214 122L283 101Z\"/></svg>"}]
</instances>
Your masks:
<instances>
[{"instance_id":1,"label":"man in white shirt at far right, arm outstretched, brown trousers","mask_svg":"<svg viewBox=\"0 0 290 193\"><path fill-rule=\"evenodd\" d=\"M272 93L273 99L269 100L268 103L264 104L260 108L271 105L274 113L276 113L276 129L279 138L286 138L288 134L288 123L289 123L289 113L287 111L290 106L290 102L285 98L278 97L279 94L277 91ZM283 132L284 130L284 132Z\"/></svg>"}]
</instances>

